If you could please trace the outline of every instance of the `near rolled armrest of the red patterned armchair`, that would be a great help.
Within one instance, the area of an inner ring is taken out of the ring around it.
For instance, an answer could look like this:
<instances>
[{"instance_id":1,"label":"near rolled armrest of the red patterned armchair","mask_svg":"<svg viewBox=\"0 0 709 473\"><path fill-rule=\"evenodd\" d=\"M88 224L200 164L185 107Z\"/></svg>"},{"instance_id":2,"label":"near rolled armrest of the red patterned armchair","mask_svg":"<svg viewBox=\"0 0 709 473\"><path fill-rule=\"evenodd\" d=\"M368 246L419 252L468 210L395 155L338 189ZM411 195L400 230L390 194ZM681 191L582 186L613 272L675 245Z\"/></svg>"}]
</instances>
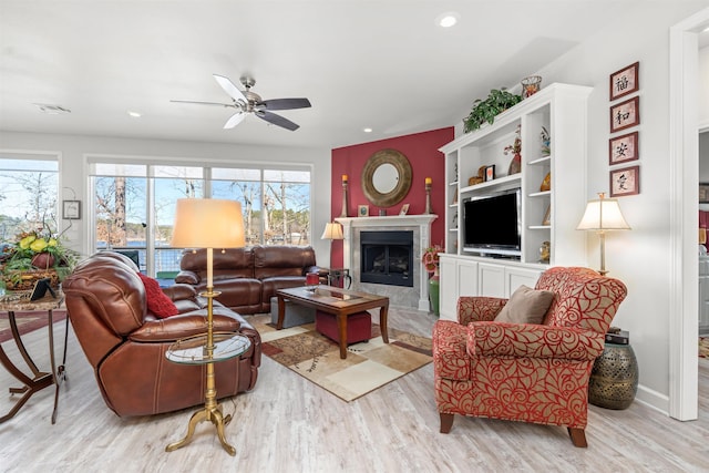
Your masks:
<instances>
[{"instance_id":1,"label":"near rolled armrest of the red patterned armchair","mask_svg":"<svg viewBox=\"0 0 709 473\"><path fill-rule=\"evenodd\" d=\"M604 335L568 327L534 323L472 322L467 326L469 356L595 360Z\"/></svg>"}]
</instances>

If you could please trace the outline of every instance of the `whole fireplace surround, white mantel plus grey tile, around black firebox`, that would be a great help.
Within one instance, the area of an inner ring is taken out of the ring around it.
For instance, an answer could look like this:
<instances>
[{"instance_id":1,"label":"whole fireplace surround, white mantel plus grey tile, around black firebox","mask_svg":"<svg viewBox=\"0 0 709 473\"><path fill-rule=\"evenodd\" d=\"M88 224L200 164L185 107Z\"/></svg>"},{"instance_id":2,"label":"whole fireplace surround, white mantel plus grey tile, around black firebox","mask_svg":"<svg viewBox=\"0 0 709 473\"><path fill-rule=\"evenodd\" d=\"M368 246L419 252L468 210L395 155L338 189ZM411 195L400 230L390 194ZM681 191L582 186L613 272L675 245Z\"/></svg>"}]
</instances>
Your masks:
<instances>
[{"instance_id":1,"label":"whole fireplace surround, white mantel plus grey tile, around black firebox","mask_svg":"<svg viewBox=\"0 0 709 473\"><path fill-rule=\"evenodd\" d=\"M340 217L345 234L342 266L350 269L352 289L389 297L392 306L429 310L429 274L421 265L421 254L431 241L431 223L438 215L400 215L387 217ZM413 287L389 286L360 281L361 232L413 232Z\"/></svg>"}]
</instances>

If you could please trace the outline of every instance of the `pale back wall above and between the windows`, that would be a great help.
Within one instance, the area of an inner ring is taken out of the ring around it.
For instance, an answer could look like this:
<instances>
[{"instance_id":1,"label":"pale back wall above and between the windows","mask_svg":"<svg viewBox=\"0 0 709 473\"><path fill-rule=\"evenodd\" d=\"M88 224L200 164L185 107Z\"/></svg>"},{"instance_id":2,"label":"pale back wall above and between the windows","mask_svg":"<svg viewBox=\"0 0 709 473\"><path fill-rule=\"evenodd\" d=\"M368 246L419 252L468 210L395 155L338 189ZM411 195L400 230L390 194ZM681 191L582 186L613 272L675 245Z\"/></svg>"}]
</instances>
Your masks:
<instances>
[{"instance_id":1,"label":"pale back wall above and between the windows","mask_svg":"<svg viewBox=\"0 0 709 473\"><path fill-rule=\"evenodd\" d=\"M199 164L205 161L225 163L285 163L311 164L312 182L330 182L330 150L243 146L224 143L174 142L160 140L107 138L99 136L72 136L34 133L0 132L0 148L22 151L51 151L61 153L60 175L62 194L60 199L80 199L84 206L89 202L86 188L85 155L121 155L154 158L157 162L179 161L185 164ZM329 188L329 186L328 186ZM314 187L315 191L315 187ZM76 193L75 195L73 193ZM317 261L329 266L328 241L320 234L330 216L329 192L312 193L312 247ZM86 212L83 212L80 225L73 225L65 233L71 246L83 255L91 253L88 247ZM66 222L64 222L66 224ZM65 228L65 225L63 226Z\"/></svg>"}]
</instances>

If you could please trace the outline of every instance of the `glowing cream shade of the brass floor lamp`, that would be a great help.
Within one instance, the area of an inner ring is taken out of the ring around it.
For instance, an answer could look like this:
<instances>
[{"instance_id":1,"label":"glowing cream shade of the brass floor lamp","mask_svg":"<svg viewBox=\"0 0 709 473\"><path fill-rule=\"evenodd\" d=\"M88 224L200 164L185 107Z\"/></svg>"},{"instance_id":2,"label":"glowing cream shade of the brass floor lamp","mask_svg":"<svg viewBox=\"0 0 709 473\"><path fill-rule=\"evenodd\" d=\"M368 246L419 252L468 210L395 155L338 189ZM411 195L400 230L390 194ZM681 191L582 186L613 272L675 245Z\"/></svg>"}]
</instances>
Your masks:
<instances>
[{"instance_id":1,"label":"glowing cream shade of the brass floor lamp","mask_svg":"<svg viewBox=\"0 0 709 473\"><path fill-rule=\"evenodd\" d=\"M242 205L216 198L181 198L175 208L174 248L239 248L245 245Z\"/></svg>"}]
</instances>

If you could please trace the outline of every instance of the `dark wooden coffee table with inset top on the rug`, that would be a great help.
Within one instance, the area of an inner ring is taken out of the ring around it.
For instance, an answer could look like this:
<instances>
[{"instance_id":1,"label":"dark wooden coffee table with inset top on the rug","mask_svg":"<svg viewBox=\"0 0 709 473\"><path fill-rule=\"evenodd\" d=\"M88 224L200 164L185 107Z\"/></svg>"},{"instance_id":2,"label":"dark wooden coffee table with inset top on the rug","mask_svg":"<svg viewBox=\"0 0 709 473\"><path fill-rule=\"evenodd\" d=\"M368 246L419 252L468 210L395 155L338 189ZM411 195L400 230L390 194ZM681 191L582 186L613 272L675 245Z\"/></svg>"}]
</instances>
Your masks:
<instances>
[{"instance_id":1,"label":"dark wooden coffee table with inset top on the rug","mask_svg":"<svg viewBox=\"0 0 709 473\"><path fill-rule=\"evenodd\" d=\"M276 291L278 297L278 330L284 328L286 315L286 299L300 306L314 307L327 313L332 313L337 319L337 328L340 335L340 358L347 358L347 317L367 309L379 307L379 325L381 338L389 343L387 332L387 313L389 312L389 298L374 294L356 292L331 286L318 286L315 290L306 287L294 287Z\"/></svg>"}]
</instances>

